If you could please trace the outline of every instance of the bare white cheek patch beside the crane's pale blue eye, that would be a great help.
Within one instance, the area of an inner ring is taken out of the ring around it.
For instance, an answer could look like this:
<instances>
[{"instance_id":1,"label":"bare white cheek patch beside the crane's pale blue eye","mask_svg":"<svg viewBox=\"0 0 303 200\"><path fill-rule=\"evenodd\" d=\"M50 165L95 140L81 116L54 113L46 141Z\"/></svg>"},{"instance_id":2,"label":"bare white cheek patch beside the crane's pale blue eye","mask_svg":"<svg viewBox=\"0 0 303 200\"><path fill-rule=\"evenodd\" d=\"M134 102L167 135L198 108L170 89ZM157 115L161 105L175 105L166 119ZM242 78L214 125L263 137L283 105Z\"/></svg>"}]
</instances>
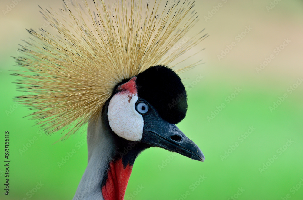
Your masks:
<instances>
[{"instance_id":1,"label":"bare white cheek patch beside the crane's pale blue eye","mask_svg":"<svg viewBox=\"0 0 303 200\"><path fill-rule=\"evenodd\" d=\"M139 141L143 133L143 117L135 109L137 94L123 91L115 94L108 105L108 121L112 131L130 141Z\"/></svg>"}]
</instances>

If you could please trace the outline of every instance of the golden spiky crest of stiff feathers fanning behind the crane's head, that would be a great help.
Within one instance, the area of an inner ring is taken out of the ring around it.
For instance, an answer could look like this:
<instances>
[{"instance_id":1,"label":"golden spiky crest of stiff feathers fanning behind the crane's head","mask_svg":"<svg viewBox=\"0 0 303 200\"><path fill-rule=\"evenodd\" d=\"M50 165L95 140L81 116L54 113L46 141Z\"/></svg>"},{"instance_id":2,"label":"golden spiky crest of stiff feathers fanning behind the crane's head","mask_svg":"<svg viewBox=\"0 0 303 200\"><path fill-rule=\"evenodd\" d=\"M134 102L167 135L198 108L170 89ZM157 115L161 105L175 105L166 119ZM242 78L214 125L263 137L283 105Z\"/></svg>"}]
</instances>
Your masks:
<instances>
[{"instance_id":1,"label":"golden spiky crest of stiff feathers fanning behind the crane's head","mask_svg":"<svg viewBox=\"0 0 303 200\"><path fill-rule=\"evenodd\" d=\"M64 2L60 13L41 8L56 34L29 30L34 41L22 46L22 56L15 58L27 70L14 75L22 77L19 89L28 92L17 101L34 111L31 116L45 133L63 130L62 139L69 137L100 116L123 79L157 64L168 65L207 37L202 30L173 49L197 22L194 2L150 4L85 0Z\"/></svg>"}]
</instances>

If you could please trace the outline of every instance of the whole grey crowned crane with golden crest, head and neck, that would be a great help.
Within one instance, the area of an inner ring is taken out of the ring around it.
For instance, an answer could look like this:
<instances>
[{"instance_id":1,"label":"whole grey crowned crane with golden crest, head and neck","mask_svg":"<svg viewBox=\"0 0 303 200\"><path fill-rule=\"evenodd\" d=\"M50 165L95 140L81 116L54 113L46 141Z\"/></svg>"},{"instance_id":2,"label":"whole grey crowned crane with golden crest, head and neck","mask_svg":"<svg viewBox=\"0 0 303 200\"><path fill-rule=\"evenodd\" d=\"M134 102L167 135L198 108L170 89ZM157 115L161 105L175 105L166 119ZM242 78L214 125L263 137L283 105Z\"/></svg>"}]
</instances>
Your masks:
<instances>
[{"instance_id":1,"label":"whole grey crowned crane with golden crest, head and neck","mask_svg":"<svg viewBox=\"0 0 303 200\"><path fill-rule=\"evenodd\" d=\"M188 0L90 3L64 2L60 13L41 8L56 32L28 30L33 42L15 58L26 69L14 75L30 93L17 100L35 110L47 134L62 130L63 140L88 123L88 165L74 200L122 200L136 157L149 147L204 161L175 125L187 111L177 73L196 63L168 66L207 35L184 40L197 21Z\"/></svg>"}]
</instances>

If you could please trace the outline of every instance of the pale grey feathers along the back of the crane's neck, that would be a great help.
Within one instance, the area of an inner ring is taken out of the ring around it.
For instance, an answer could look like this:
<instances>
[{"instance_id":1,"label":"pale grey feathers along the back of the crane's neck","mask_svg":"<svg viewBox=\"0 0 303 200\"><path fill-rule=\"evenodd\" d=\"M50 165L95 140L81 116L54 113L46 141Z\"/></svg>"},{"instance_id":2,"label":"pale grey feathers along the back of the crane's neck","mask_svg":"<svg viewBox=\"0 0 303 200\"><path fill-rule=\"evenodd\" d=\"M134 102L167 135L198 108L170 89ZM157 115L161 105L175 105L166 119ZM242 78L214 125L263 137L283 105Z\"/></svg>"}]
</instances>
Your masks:
<instances>
[{"instance_id":1,"label":"pale grey feathers along the back of the crane's neck","mask_svg":"<svg viewBox=\"0 0 303 200\"><path fill-rule=\"evenodd\" d=\"M87 128L88 165L73 200L103 200L101 182L115 152L115 143L102 119L89 121Z\"/></svg>"}]
</instances>

